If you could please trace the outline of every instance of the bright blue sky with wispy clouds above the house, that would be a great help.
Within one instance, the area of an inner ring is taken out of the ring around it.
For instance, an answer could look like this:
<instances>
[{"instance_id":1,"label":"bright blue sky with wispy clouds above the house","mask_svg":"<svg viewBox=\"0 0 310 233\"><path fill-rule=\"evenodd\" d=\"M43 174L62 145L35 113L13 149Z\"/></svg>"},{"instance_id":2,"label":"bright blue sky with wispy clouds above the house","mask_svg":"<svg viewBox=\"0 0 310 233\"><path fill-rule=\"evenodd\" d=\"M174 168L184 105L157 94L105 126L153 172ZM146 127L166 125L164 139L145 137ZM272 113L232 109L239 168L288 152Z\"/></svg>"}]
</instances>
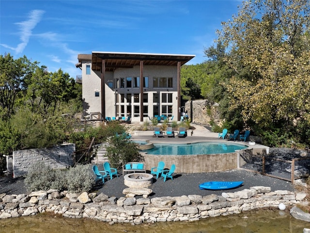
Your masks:
<instances>
[{"instance_id":1,"label":"bright blue sky with wispy clouds above the house","mask_svg":"<svg viewBox=\"0 0 310 233\"><path fill-rule=\"evenodd\" d=\"M196 55L206 60L240 0L0 0L0 53L26 55L75 78L92 51Z\"/></svg>"}]
</instances>

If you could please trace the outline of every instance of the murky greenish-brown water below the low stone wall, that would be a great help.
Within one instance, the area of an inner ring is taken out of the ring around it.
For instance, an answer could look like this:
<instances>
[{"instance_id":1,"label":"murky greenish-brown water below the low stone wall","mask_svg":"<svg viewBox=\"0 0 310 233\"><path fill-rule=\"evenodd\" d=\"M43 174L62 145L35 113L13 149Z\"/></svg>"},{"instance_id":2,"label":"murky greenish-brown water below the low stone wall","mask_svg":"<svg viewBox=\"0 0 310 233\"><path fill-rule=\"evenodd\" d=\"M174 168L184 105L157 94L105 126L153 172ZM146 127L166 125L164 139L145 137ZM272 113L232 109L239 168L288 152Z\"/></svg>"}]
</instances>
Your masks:
<instances>
[{"instance_id":1,"label":"murky greenish-brown water below the low stone wall","mask_svg":"<svg viewBox=\"0 0 310 233\"><path fill-rule=\"evenodd\" d=\"M45 214L0 219L0 233L302 233L304 228L310 228L310 223L295 219L289 211L271 210L136 226Z\"/></svg>"}]
</instances>

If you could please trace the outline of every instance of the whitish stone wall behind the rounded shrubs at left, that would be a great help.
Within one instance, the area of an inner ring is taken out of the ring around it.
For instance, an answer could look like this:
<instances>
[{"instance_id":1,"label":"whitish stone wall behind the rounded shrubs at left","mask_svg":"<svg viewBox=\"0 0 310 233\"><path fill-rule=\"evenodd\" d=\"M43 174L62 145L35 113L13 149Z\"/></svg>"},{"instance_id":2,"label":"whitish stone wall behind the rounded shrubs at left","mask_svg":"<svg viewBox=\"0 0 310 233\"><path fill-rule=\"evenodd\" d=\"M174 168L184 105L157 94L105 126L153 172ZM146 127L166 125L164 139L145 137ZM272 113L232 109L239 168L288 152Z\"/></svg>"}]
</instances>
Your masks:
<instances>
[{"instance_id":1,"label":"whitish stone wall behind the rounded shrubs at left","mask_svg":"<svg viewBox=\"0 0 310 233\"><path fill-rule=\"evenodd\" d=\"M67 144L46 149L30 149L13 151L14 178L25 175L28 167L43 161L47 166L64 168L74 165L75 144Z\"/></svg>"}]
</instances>

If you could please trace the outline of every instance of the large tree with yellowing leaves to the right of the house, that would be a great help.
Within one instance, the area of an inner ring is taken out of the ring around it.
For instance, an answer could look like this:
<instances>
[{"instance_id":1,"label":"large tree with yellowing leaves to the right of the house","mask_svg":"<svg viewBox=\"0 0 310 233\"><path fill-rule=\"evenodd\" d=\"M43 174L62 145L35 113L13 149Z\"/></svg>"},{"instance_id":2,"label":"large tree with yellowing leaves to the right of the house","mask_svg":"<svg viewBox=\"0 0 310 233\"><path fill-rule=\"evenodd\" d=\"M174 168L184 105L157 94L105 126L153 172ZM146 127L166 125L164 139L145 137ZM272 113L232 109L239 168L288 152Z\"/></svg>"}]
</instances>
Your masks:
<instances>
[{"instance_id":1,"label":"large tree with yellowing leaves to the right of the house","mask_svg":"<svg viewBox=\"0 0 310 233\"><path fill-rule=\"evenodd\" d=\"M231 110L241 109L246 124L289 136L298 124L309 127L309 13L308 0L245 1L218 31L224 61L236 73L226 85Z\"/></svg>"}]
</instances>

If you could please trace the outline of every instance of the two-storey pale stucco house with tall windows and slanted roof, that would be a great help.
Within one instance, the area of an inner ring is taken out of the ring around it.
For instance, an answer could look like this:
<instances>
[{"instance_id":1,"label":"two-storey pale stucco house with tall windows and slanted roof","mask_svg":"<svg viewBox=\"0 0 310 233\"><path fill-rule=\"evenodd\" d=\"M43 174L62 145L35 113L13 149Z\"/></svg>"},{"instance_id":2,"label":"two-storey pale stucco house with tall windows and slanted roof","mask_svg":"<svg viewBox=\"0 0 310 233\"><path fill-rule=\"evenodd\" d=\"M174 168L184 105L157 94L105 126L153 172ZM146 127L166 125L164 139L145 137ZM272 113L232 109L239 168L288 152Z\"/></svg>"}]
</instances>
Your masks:
<instances>
[{"instance_id":1,"label":"two-storey pale stucco house with tall windows and slanted roof","mask_svg":"<svg viewBox=\"0 0 310 233\"><path fill-rule=\"evenodd\" d=\"M181 66L193 57L96 51L78 54L84 113L89 119L131 116L132 122L143 122L166 115L180 120Z\"/></svg>"}]
</instances>

